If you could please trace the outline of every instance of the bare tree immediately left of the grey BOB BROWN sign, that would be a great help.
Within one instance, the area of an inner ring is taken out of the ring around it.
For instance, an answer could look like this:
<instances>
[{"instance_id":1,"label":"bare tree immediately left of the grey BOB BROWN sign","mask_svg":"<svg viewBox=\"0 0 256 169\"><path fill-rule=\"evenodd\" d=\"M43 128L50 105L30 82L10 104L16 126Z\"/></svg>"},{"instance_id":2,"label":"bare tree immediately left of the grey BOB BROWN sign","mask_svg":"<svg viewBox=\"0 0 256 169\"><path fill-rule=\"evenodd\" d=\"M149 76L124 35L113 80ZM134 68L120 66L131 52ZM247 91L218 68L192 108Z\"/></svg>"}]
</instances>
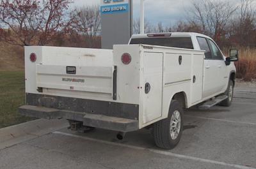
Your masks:
<instances>
[{"instance_id":1,"label":"bare tree immediately left of the grey BOB BROWN sign","mask_svg":"<svg viewBox=\"0 0 256 169\"><path fill-rule=\"evenodd\" d=\"M100 32L100 10L97 6L83 6L74 11L76 20L74 28L78 33L86 35L87 46L94 47L94 42Z\"/></svg>"}]
</instances>

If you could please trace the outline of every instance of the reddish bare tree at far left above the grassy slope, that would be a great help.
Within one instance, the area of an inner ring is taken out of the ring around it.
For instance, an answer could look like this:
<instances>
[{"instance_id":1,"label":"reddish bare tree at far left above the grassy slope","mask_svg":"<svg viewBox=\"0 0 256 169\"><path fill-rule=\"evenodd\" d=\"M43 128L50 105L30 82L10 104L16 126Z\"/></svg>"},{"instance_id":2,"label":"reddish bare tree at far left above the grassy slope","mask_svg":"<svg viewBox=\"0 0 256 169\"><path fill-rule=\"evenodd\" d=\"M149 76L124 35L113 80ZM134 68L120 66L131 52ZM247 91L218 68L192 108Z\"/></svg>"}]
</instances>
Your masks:
<instances>
[{"instance_id":1,"label":"reddish bare tree at far left above the grassy slope","mask_svg":"<svg viewBox=\"0 0 256 169\"><path fill-rule=\"evenodd\" d=\"M70 31L71 0L1 0L0 37L12 45L45 45Z\"/></svg>"}]
</instances>

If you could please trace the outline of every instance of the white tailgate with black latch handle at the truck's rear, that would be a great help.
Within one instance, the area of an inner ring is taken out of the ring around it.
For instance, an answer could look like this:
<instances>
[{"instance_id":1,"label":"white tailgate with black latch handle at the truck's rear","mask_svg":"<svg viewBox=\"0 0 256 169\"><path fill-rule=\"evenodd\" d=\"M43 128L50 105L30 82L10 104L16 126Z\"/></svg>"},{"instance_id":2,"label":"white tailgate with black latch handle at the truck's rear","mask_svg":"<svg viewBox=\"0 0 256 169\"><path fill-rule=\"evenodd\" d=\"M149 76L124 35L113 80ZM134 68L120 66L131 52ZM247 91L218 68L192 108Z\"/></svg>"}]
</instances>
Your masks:
<instances>
[{"instance_id":1,"label":"white tailgate with black latch handle at the truck's rear","mask_svg":"<svg viewBox=\"0 0 256 169\"><path fill-rule=\"evenodd\" d=\"M74 73L68 73L71 67ZM112 94L113 68L103 66L36 65L36 87Z\"/></svg>"}]
</instances>

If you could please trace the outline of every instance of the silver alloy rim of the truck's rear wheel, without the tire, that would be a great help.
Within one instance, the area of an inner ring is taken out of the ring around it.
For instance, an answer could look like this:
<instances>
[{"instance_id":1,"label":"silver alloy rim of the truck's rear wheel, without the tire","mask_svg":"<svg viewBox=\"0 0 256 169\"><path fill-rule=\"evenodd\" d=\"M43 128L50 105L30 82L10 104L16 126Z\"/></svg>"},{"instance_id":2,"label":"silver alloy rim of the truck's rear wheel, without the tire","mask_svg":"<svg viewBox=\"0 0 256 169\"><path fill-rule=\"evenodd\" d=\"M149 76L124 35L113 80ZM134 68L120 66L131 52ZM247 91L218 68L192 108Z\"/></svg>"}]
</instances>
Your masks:
<instances>
[{"instance_id":1,"label":"silver alloy rim of the truck's rear wheel, without the tire","mask_svg":"<svg viewBox=\"0 0 256 169\"><path fill-rule=\"evenodd\" d=\"M178 110L175 110L172 114L171 122L170 122L170 135L172 140L175 140L180 133L180 123L181 123L181 117L180 112Z\"/></svg>"}]
</instances>

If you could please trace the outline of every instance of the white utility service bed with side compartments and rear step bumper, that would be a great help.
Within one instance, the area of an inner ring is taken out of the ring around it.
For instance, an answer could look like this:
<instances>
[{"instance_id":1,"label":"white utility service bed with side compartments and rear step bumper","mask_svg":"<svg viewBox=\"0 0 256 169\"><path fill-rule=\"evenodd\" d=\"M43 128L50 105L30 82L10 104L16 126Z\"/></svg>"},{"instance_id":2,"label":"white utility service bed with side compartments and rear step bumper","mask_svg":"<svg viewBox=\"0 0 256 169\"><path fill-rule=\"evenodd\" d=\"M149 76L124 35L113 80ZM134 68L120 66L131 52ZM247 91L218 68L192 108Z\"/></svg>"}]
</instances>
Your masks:
<instances>
[{"instance_id":1,"label":"white utility service bed with side compartments and rear step bumper","mask_svg":"<svg viewBox=\"0 0 256 169\"><path fill-rule=\"evenodd\" d=\"M29 60L31 54L36 62ZM129 64L122 62L123 54L131 56ZM31 117L65 118L126 132L166 118L177 92L187 94L186 107L202 100L200 50L151 45L115 45L113 50L25 47L25 64L26 105L19 110Z\"/></svg>"}]
</instances>

